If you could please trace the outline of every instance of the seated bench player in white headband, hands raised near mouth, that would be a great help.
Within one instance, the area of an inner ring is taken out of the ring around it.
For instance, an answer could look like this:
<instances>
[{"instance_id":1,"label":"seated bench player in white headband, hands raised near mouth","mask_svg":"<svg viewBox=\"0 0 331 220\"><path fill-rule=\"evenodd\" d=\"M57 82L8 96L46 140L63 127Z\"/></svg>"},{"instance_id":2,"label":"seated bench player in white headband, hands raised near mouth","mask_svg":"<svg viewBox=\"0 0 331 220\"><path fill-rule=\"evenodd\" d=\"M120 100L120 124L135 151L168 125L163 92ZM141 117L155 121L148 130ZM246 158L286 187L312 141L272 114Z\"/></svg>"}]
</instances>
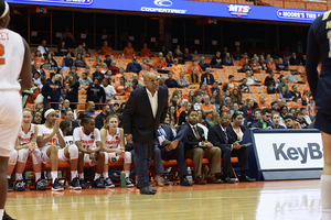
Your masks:
<instances>
[{"instance_id":1,"label":"seated bench player in white headband, hands raised near mouth","mask_svg":"<svg viewBox=\"0 0 331 220\"><path fill-rule=\"evenodd\" d=\"M60 130L60 121L56 119L54 109L49 109L45 113L45 124L39 125L36 138L38 146L41 147L42 158L44 163L51 163L52 190L63 190L57 179L57 163L71 163L71 188L82 189L77 178L78 148L76 145L65 146L62 131Z\"/></svg>"}]
</instances>

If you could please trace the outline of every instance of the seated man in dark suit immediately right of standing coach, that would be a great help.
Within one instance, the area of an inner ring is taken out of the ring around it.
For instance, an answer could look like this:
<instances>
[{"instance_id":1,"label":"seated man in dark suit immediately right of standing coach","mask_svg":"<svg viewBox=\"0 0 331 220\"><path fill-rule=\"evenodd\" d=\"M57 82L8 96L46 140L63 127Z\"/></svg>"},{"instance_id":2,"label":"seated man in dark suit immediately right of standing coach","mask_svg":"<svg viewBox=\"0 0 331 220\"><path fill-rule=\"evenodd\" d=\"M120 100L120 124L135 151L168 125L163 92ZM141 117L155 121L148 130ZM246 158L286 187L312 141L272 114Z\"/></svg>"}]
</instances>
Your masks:
<instances>
[{"instance_id":1,"label":"seated man in dark suit immediately right of standing coach","mask_svg":"<svg viewBox=\"0 0 331 220\"><path fill-rule=\"evenodd\" d=\"M184 144L182 140L185 136L188 130L182 129L178 133L169 125L170 116L167 113L164 124L158 129L158 144L157 146L161 150L161 158L163 161L177 160L179 173L181 175L181 186L192 186L188 180L188 166L185 163ZM172 145L170 143L173 143Z\"/></svg>"}]
</instances>

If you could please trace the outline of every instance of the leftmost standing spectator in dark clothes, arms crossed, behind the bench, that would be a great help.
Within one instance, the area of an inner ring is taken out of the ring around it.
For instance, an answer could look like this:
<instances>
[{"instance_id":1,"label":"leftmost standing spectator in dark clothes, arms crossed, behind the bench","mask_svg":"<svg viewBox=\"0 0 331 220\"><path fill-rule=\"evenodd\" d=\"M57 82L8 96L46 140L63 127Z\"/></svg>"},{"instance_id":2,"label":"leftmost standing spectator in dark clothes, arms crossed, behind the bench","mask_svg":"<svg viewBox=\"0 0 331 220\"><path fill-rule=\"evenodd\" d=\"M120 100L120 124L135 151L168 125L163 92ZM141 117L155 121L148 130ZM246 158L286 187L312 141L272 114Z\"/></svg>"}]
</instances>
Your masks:
<instances>
[{"instance_id":1,"label":"leftmost standing spectator in dark clothes, arms crossed, behind the bench","mask_svg":"<svg viewBox=\"0 0 331 220\"><path fill-rule=\"evenodd\" d=\"M56 81L54 73L51 73L50 79L44 84L42 95L44 97L43 103L45 109L49 109L49 102L58 102L61 96L61 84ZM51 103L51 108L58 109L58 103Z\"/></svg>"}]
</instances>

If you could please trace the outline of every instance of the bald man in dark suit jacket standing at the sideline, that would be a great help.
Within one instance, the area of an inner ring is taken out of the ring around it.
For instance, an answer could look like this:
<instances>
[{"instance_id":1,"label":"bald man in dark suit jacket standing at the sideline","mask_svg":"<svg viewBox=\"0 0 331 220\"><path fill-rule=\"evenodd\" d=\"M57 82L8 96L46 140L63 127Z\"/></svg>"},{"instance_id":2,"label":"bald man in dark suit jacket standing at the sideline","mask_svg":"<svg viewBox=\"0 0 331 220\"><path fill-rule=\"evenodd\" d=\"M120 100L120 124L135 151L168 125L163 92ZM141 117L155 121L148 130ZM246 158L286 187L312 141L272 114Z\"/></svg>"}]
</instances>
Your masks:
<instances>
[{"instance_id":1,"label":"bald man in dark suit jacket standing at the sideline","mask_svg":"<svg viewBox=\"0 0 331 220\"><path fill-rule=\"evenodd\" d=\"M157 130L166 119L168 89L159 87L153 73L143 76L145 87L131 92L122 113L122 128L127 142L134 142L140 194L154 195L149 187L148 167L156 145Z\"/></svg>"}]
</instances>

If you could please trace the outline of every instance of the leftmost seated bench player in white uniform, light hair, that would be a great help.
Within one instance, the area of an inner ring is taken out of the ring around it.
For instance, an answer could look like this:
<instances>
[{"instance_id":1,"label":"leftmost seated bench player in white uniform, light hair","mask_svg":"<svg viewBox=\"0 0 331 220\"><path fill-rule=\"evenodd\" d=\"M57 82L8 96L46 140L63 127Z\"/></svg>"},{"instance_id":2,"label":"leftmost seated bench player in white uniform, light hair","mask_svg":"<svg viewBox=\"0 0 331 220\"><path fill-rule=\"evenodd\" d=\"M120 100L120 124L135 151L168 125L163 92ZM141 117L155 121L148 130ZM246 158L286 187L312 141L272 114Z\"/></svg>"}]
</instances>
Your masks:
<instances>
[{"instance_id":1,"label":"leftmost seated bench player in white uniform, light hair","mask_svg":"<svg viewBox=\"0 0 331 220\"><path fill-rule=\"evenodd\" d=\"M23 110L23 121L22 127L17 139L15 153L11 155L15 155L18 157L17 170L15 170L15 191L24 191L24 183L22 173L24 172L26 161L33 163L33 170L35 176L35 189L36 190L45 190L46 187L41 180L41 170L42 170L42 158L41 152L36 146L36 135L39 128L36 124L31 123L32 121L32 111L31 109ZM13 160L13 158L12 158ZM13 168L12 165L8 166L9 168ZM12 169L11 169L12 172ZM11 173L10 173L11 174Z\"/></svg>"}]
</instances>

